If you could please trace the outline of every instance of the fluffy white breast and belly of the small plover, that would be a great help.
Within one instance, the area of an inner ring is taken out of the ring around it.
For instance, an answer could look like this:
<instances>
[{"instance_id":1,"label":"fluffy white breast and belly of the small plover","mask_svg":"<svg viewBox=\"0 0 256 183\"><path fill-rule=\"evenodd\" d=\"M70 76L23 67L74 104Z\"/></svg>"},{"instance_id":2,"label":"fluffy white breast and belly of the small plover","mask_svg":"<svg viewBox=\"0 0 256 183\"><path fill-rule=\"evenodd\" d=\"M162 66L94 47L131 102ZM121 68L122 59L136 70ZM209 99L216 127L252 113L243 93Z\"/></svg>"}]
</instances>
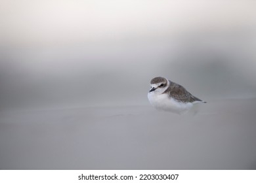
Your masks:
<instances>
[{"instance_id":1,"label":"fluffy white breast and belly of the small plover","mask_svg":"<svg viewBox=\"0 0 256 183\"><path fill-rule=\"evenodd\" d=\"M148 93L148 100L155 108L159 110L167 110L178 114L188 111L193 106L192 103L178 102L169 97L166 93L158 94L150 92Z\"/></svg>"}]
</instances>

